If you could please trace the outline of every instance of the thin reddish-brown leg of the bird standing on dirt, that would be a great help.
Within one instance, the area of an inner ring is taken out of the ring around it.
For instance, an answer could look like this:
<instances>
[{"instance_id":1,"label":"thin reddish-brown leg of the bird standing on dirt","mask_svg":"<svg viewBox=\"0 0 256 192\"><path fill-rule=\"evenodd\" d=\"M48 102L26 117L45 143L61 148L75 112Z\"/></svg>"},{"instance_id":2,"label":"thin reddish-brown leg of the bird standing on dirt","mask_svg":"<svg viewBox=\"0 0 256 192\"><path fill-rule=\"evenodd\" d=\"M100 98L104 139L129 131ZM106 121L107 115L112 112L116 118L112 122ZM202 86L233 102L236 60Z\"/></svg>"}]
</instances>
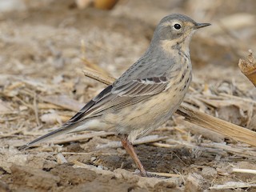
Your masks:
<instances>
[{"instance_id":1,"label":"thin reddish-brown leg of the bird standing on dirt","mask_svg":"<svg viewBox=\"0 0 256 192\"><path fill-rule=\"evenodd\" d=\"M142 177L146 177L146 170L142 166L142 162L138 159L137 154L135 153L134 146L131 142L128 141L127 137L121 138L122 146L125 148L126 152L130 154L130 157L134 159L134 162L138 169L141 171Z\"/></svg>"}]
</instances>

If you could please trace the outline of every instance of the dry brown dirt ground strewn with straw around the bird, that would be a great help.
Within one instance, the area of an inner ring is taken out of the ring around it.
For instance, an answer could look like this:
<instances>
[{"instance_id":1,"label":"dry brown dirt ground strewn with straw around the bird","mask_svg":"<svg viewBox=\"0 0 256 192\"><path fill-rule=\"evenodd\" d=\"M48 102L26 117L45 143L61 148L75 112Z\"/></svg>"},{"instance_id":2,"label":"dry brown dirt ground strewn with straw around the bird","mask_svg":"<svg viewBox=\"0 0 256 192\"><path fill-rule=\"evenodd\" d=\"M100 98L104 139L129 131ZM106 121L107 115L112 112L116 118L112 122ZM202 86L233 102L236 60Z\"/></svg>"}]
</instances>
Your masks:
<instances>
[{"instance_id":1,"label":"dry brown dirt ground strewn with straw around the bird","mask_svg":"<svg viewBox=\"0 0 256 192\"><path fill-rule=\"evenodd\" d=\"M185 102L256 130L256 89L238 69L239 58L256 50L255 1L122 0L108 11L79 10L71 0L17 2L16 10L0 9L0 191L256 191L255 174L233 170L256 170L254 146L178 114L135 146L157 174L150 178L138 175L112 132L67 134L17 150L105 87L86 78L85 67L118 78L171 13L212 23L191 42L194 77Z\"/></svg>"}]
</instances>

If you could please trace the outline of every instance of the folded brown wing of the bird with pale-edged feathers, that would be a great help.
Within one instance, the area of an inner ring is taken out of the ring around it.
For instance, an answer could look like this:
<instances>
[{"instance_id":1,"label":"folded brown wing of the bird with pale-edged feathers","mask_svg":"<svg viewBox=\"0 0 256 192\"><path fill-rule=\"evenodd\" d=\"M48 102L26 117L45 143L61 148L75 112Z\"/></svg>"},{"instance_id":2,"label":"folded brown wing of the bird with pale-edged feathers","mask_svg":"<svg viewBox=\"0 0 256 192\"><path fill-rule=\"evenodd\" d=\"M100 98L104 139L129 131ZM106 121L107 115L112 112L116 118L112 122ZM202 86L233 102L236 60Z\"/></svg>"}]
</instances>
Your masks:
<instances>
[{"instance_id":1,"label":"folded brown wing of the bird with pale-edged feathers","mask_svg":"<svg viewBox=\"0 0 256 192\"><path fill-rule=\"evenodd\" d=\"M118 86L108 86L66 124L73 124L86 118L100 116L107 111L120 110L123 107L134 105L151 95L161 93L166 89L168 82L168 79L162 76L136 79Z\"/></svg>"}]
</instances>

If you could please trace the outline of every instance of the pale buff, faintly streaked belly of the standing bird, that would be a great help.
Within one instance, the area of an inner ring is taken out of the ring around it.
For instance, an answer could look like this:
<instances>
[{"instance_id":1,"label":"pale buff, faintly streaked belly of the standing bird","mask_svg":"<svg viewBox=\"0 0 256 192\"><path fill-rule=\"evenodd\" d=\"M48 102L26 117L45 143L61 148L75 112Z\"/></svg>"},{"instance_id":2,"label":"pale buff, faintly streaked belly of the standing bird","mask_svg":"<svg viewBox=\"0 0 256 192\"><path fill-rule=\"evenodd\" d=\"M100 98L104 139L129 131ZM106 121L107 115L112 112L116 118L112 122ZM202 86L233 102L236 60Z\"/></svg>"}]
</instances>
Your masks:
<instances>
[{"instance_id":1,"label":"pale buff, faintly streaked belly of the standing bird","mask_svg":"<svg viewBox=\"0 0 256 192\"><path fill-rule=\"evenodd\" d=\"M130 142L133 142L161 126L178 109L186 89L175 89L174 86L133 106L126 106L114 114L105 114L104 120L107 124L114 124L118 134L128 135Z\"/></svg>"}]
</instances>

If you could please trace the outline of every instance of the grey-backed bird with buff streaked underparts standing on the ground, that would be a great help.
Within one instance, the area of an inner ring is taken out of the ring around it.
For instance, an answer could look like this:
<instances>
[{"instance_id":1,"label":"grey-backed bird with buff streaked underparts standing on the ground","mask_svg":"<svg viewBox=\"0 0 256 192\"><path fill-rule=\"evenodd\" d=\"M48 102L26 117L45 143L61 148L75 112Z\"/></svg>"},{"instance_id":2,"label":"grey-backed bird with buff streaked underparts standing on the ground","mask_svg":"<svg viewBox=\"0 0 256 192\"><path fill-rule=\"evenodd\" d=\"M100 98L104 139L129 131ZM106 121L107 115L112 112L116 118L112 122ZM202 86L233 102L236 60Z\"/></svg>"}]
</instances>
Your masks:
<instances>
[{"instance_id":1,"label":"grey-backed bird with buff streaked underparts standing on the ground","mask_svg":"<svg viewBox=\"0 0 256 192\"><path fill-rule=\"evenodd\" d=\"M148 176L133 146L162 126L178 110L192 78L190 40L210 23L170 14L158 23L150 46L120 78L87 102L57 130L19 147L24 150L60 134L83 130L115 130L142 177Z\"/></svg>"}]
</instances>

